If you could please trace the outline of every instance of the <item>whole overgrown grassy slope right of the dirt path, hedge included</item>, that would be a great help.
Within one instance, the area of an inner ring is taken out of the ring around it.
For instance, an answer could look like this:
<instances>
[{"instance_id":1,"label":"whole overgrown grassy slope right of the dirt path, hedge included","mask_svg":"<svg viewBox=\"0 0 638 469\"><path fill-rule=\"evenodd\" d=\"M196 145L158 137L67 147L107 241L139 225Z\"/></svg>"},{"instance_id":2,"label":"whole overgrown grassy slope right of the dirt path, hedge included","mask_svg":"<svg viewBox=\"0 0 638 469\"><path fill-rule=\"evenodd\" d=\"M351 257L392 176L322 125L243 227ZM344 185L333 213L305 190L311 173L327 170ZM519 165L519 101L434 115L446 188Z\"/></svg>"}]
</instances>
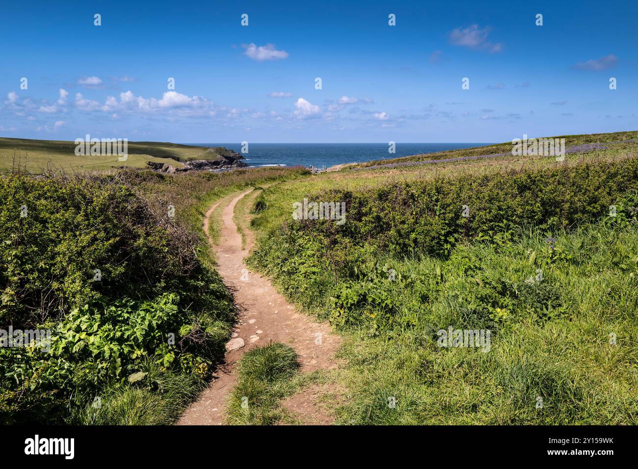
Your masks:
<instances>
[{"instance_id":1,"label":"whole overgrown grassy slope right of the dirt path, hedge included","mask_svg":"<svg viewBox=\"0 0 638 469\"><path fill-rule=\"evenodd\" d=\"M566 136L606 145L561 163L507 154L263 190L251 264L345 337L336 422L638 423L635 136ZM346 223L293 220L304 197L345 200ZM491 331L489 350L439 346L449 327Z\"/></svg>"}]
</instances>

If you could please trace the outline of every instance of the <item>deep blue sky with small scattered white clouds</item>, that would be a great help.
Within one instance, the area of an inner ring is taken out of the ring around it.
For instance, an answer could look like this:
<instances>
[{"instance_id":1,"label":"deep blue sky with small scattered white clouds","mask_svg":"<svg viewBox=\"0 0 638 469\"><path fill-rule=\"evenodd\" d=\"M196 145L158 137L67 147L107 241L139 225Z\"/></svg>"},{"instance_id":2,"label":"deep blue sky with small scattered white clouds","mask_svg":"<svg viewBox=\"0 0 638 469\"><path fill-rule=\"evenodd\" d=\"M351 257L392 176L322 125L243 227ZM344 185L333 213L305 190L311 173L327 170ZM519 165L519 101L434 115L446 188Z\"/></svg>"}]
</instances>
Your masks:
<instances>
[{"instance_id":1,"label":"deep blue sky with small scattered white clouds","mask_svg":"<svg viewBox=\"0 0 638 469\"><path fill-rule=\"evenodd\" d=\"M0 135L504 142L638 129L637 2L485 3L8 2Z\"/></svg>"}]
</instances>

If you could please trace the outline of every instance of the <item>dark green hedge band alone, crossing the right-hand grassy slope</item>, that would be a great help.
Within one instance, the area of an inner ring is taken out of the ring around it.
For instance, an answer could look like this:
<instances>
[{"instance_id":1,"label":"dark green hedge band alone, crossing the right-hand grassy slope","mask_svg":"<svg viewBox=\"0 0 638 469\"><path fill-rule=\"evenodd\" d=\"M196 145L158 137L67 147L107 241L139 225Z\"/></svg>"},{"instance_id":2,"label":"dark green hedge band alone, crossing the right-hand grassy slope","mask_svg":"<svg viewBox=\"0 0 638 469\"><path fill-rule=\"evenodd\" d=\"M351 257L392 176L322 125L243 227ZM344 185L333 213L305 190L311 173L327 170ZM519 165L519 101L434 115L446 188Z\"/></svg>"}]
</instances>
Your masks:
<instances>
[{"instance_id":1,"label":"dark green hedge band alone, crossing the right-hand grassy slope","mask_svg":"<svg viewBox=\"0 0 638 469\"><path fill-rule=\"evenodd\" d=\"M618 219L637 206L638 160L551 170L464 175L395 183L375 190L327 191L314 199L346 202L346 222L291 221L338 244L373 244L390 254L447 255L463 239L494 238L514 225L558 230L598 219L617 205ZM632 196L634 194L634 196ZM627 198L629 197L629 198ZM468 207L467 217L463 206Z\"/></svg>"}]
</instances>

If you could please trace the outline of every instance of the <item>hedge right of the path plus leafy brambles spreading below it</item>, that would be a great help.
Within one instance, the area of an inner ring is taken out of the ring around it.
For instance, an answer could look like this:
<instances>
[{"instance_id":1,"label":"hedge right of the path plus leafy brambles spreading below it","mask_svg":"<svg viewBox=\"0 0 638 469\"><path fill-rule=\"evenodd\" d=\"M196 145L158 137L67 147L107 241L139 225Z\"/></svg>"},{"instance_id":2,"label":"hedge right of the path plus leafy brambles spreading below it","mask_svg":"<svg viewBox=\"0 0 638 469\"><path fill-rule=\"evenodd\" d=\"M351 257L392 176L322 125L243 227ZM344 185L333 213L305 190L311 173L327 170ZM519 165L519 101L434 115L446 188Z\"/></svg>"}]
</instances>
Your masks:
<instances>
[{"instance_id":1,"label":"hedge right of the path plus leafy brambles spreading below it","mask_svg":"<svg viewBox=\"0 0 638 469\"><path fill-rule=\"evenodd\" d=\"M563 312L558 288L548 281L512 284L484 278L482 260L468 258L468 251L457 247L473 240L508 246L521 227L546 233L549 241L551 233L588 221L635 227L637 194L636 159L401 182L357 192L329 190L314 199L345 201L346 223L287 221L262 241L251 262L302 306L321 309L327 301L323 314L338 327L373 322L392 330L418 324L412 311L420 306L403 304L399 290L434 295L450 268L476 278L475 304L461 306L475 323L506 324L523 304L542 320ZM463 205L469 207L468 217ZM544 251L539 262L569 262L560 246L547 242ZM431 278L404 276L393 282L380 276L375 264L380 258L424 256L444 263L444 272L438 265Z\"/></svg>"}]
</instances>

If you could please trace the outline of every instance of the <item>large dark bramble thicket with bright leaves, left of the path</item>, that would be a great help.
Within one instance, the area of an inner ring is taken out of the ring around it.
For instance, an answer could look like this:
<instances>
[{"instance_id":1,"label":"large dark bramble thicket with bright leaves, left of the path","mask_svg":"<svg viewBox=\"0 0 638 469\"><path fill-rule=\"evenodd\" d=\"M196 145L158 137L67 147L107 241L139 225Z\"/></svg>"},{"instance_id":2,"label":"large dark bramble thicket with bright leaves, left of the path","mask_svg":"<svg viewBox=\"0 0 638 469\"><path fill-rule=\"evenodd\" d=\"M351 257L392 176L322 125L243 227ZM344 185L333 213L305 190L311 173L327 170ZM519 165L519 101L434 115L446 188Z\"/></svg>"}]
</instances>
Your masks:
<instances>
[{"instance_id":1,"label":"large dark bramble thicket with bright leaves, left of the path","mask_svg":"<svg viewBox=\"0 0 638 469\"><path fill-rule=\"evenodd\" d=\"M0 348L3 421L68 421L149 369L210 376L232 299L165 206L117 175L12 175L0 200L0 328L52 334L48 352Z\"/></svg>"}]
</instances>

